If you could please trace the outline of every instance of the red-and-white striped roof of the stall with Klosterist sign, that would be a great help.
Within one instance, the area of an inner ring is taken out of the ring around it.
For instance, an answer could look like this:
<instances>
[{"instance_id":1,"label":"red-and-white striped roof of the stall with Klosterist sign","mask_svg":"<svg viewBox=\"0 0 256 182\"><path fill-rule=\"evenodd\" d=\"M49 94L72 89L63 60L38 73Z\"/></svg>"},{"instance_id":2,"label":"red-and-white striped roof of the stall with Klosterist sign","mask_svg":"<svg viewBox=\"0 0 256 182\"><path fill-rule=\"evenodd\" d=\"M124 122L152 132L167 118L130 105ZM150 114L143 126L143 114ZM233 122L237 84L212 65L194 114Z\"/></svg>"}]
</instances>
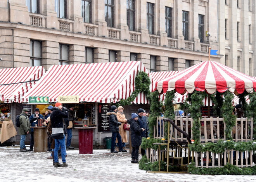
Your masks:
<instances>
[{"instance_id":1,"label":"red-and-white striped roof of the stall with Klosterist sign","mask_svg":"<svg viewBox=\"0 0 256 182\"><path fill-rule=\"evenodd\" d=\"M133 93L138 71L149 74L141 61L54 65L39 80L38 87L24 95L24 100L28 102L29 96L48 96L49 102L57 102L58 96L79 95L80 102L115 103ZM148 101L140 93L134 103Z\"/></svg>"}]
</instances>

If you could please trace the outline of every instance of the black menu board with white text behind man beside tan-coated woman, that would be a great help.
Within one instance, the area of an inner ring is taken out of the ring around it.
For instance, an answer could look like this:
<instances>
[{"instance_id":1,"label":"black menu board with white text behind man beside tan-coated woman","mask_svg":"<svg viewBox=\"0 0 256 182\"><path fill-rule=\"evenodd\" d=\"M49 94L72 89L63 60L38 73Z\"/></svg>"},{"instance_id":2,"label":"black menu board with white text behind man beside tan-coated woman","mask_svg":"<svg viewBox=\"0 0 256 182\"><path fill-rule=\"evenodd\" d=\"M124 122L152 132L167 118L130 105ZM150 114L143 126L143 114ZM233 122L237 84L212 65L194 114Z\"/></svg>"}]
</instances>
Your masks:
<instances>
[{"instance_id":1,"label":"black menu board with white text behind man beside tan-coated woman","mask_svg":"<svg viewBox=\"0 0 256 182\"><path fill-rule=\"evenodd\" d=\"M110 104L99 104L99 131L110 132L109 116L107 116L107 112L109 112L110 109Z\"/></svg>"}]
</instances>

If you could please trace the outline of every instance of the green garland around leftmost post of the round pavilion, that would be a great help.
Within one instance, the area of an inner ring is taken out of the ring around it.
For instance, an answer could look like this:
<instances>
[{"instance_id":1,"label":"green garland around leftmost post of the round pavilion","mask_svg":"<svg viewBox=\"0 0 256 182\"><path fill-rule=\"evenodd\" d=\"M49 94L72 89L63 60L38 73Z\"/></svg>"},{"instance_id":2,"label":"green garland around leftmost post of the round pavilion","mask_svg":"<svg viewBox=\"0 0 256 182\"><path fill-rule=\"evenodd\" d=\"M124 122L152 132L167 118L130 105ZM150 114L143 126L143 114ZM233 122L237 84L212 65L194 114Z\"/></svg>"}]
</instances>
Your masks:
<instances>
[{"instance_id":1,"label":"green garland around leftmost post of the round pavilion","mask_svg":"<svg viewBox=\"0 0 256 182\"><path fill-rule=\"evenodd\" d=\"M162 103L159 102L159 92L156 90L150 94L149 137L153 138L154 125L157 117L161 116Z\"/></svg>"}]
</instances>

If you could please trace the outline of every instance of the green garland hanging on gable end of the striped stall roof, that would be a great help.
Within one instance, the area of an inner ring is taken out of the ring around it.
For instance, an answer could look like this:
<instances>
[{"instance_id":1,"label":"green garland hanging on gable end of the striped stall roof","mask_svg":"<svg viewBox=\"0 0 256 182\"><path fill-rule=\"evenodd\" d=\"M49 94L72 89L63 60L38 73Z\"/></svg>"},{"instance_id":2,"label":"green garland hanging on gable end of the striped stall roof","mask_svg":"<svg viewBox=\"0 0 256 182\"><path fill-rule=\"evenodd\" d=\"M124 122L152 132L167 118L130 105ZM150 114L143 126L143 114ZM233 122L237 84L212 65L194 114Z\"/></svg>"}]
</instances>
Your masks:
<instances>
[{"instance_id":1,"label":"green garland hanging on gable end of the striped stall roof","mask_svg":"<svg viewBox=\"0 0 256 182\"><path fill-rule=\"evenodd\" d=\"M149 90L149 86L151 84L150 78L147 75L147 73L145 73L144 71L138 71L137 76L135 77L135 90L133 91L133 93L130 95L130 97L128 97L126 100L122 99L120 100L118 103L116 103L117 106L119 105L130 105L134 99L138 96L138 94L140 92L144 92L144 94L146 95L147 99L150 100L149 95L150 95L150 90Z\"/></svg>"}]
</instances>

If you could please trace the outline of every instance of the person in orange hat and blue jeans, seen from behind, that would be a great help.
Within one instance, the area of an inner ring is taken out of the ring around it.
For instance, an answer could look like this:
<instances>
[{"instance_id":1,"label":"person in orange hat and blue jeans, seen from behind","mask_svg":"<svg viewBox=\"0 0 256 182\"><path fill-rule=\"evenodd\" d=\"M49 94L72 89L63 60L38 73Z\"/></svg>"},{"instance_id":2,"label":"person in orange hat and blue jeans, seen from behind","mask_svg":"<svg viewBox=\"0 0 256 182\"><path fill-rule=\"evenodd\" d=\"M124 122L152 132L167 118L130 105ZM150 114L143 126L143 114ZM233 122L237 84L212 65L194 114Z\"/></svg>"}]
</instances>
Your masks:
<instances>
[{"instance_id":1,"label":"person in orange hat and blue jeans, seen from behind","mask_svg":"<svg viewBox=\"0 0 256 182\"><path fill-rule=\"evenodd\" d=\"M52 113L50 116L52 124L52 138L55 141L54 146L54 167L67 167L66 163L66 145L65 145L65 124L63 118L68 117L68 112L62 112L62 104L57 102L55 107L52 108ZM62 164L59 163L58 150L61 146L61 157Z\"/></svg>"}]
</instances>

